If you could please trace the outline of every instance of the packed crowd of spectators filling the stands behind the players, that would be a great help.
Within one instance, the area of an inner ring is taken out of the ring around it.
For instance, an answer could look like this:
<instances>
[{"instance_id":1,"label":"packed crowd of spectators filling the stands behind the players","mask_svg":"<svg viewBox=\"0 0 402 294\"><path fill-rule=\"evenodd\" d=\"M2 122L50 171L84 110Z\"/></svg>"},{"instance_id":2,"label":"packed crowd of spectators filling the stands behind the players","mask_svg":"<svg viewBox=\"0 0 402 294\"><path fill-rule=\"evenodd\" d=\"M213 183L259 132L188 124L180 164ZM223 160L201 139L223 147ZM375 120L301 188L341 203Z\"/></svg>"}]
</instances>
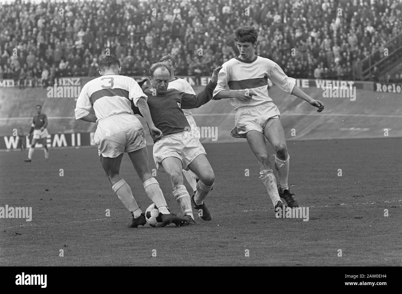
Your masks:
<instances>
[{"instance_id":1,"label":"packed crowd of spectators filling the stands behind the players","mask_svg":"<svg viewBox=\"0 0 402 294\"><path fill-rule=\"evenodd\" d=\"M0 6L0 78L23 87L98 76L106 53L124 75L147 76L172 54L178 76L209 76L238 55L234 31L248 25L258 31L256 54L288 76L359 80L361 60L401 33L401 11L400 0L18 0Z\"/></svg>"}]
</instances>

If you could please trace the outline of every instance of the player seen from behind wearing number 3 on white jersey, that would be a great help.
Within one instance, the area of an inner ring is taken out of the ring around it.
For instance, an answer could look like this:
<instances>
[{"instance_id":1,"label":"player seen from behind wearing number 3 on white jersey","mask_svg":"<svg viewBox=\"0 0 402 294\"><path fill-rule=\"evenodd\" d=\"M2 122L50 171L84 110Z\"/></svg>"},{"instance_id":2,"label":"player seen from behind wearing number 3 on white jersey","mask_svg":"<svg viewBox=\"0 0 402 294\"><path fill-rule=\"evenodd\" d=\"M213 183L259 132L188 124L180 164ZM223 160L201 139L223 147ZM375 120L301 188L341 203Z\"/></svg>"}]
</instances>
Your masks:
<instances>
[{"instance_id":1,"label":"player seen from behind wearing number 3 on white jersey","mask_svg":"<svg viewBox=\"0 0 402 294\"><path fill-rule=\"evenodd\" d=\"M82 87L78 97L76 119L98 122L94 141L98 145L100 163L106 172L113 191L131 212L132 220L128 227L145 225L146 219L133 197L132 190L119 175L123 153L127 152L134 169L144 183L148 197L162 213L164 225L188 225L189 219L170 213L158 181L151 176L148 165L148 151L144 138L144 128L133 115L131 101L147 97L132 78L119 76L119 59L113 55L105 56L99 63L101 77L89 81ZM95 115L90 113L94 108ZM152 135L162 137L162 132L152 122L148 106L142 105L140 111L146 118Z\"/></svg>"}]
</instances>

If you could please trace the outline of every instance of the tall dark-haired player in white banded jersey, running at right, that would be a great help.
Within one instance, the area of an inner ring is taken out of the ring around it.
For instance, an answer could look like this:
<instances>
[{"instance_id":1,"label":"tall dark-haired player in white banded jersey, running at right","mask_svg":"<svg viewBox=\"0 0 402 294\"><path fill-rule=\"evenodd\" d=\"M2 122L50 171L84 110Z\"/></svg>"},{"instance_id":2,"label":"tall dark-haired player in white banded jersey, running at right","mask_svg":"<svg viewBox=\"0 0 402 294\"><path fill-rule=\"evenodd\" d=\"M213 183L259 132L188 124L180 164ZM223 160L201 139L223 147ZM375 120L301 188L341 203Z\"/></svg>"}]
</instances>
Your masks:
<instances>
[{"instance_id":1,"label":"tall dark-haired player in white banded jersey, running at right","mask_svg":"<svg viewBox=\"0 0 402 294\"><path fill-rule=\"evenodd\" d=\"M214 99L230 98L235 116L235 128L231 135L246 138L248 145L258 159L260 178L263 180L275 211L283 208L281 196L289 207L298 207L295 195L290 193L287 183L289 173L289 154L287 153L285 133L279 120L277 106L268 95L267 79L281 90L293 94L312 106L324 109L319 100L314 100L301 91L294 78L289 78L274 61L255 55L257 31L254 27L238 27L235 41L240 55L226 61L219 72ZM226 90L229 88L230 90ZM276 151L275 169L278 172L279 186L273 174L265 138Z\"/></svg>"}]
</instances>

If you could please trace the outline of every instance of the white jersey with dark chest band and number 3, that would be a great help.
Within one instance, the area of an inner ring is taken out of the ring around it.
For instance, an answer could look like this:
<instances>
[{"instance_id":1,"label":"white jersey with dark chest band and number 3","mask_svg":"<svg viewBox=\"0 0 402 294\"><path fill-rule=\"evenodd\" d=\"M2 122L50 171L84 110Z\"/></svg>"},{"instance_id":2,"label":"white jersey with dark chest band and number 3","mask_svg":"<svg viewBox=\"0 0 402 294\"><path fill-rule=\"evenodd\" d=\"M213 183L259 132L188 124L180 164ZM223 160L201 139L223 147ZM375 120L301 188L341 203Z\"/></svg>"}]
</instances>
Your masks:
<instances>
[{"instance_id":1,"label":"white jersey with dark chest band and number 3","mask_svg":"<svg viewBox=\"0 0 402 294\"><path fill-rule=\"evenodd\" d=\"M96 121L120 113L133 114L131 101L139 97L147 96L133 78L113 74L100 76L82 87L75 116L76 119L87 116L92 106Z\"/></svg>"}]
</instances>

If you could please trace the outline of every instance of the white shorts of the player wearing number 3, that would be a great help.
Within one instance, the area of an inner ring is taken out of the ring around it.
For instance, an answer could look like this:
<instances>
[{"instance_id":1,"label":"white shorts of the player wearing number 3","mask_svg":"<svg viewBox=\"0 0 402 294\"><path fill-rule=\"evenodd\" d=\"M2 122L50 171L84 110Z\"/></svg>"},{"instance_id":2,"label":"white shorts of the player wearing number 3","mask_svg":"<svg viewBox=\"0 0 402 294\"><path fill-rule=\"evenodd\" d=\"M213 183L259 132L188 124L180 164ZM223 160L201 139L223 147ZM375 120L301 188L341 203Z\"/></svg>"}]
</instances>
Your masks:
<instances>
[{"instance_id":1,"label":"white shorts of the player wearing number 3","mask_svg":"<svg viewBox=\"0 0 402 294\"><path fill-rule=\"evenodd\" d=\"M145 147L144 128L136 116L121 113L98 121L94 135L98 154L103 157L117 157Z\"/></svg>"}]
</instances>

